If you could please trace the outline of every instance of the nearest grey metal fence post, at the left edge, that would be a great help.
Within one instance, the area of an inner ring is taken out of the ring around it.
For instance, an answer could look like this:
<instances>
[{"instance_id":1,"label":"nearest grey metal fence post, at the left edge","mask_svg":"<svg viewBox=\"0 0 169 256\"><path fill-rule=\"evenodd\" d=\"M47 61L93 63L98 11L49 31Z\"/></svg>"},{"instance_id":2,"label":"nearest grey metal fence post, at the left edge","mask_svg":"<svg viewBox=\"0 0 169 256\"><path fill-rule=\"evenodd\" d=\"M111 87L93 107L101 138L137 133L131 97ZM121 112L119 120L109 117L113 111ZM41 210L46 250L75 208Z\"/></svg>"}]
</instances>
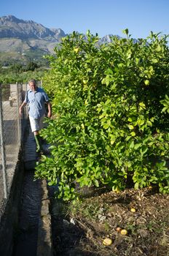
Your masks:
<instances>
[{"instance_id":1,"label":"nearest grey metal fence post, at the left edge","mask_svg":"<svg viewBox=\"0 0 169 256\"><path fill-rule=\"evenodd\" d=\"M1 84L0 84L0 139L1 139L1 164L4 183L4 198L7 199L7 167L4 148L4 124L3 124L3 110L2 110L2 97L1 97Z\"/></svg>"}]
</instances>

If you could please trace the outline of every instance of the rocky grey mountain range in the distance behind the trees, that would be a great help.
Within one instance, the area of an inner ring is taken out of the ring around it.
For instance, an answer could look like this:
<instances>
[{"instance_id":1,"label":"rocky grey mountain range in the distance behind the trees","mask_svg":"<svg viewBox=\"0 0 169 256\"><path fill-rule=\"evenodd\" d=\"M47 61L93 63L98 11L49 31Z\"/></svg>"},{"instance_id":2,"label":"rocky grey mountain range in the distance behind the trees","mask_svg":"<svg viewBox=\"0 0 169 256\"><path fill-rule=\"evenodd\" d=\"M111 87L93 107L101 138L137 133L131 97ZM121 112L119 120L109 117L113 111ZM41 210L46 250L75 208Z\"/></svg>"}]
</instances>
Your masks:
<instances>
[{"instance_id":1,"label":"rocky grey mountain range in the distance behind the trees","mask_svg":"<svg viewBox=\"0 0 169 256\"><path fill-rule=\"evenodd\" d=\"M55 46L67 34L62 29L48 29L33 20L21 20L14 15L0 18L1 61L19 59L38 60L43 55L54 53ZM111 35L100 39L110 42Z\"/></svg>"}]
</instances>

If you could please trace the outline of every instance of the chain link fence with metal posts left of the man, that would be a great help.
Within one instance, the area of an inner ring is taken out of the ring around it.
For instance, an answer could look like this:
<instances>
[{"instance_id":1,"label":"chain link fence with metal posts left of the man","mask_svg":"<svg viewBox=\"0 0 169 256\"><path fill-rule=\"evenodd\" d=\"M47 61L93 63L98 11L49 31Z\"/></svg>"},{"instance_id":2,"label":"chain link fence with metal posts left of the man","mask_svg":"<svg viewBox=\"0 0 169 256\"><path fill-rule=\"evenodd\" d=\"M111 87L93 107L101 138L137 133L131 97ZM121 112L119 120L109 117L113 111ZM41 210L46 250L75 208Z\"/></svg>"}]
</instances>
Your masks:
<instances>
[{"instance_id":1,"label":"chain link fence with metal posts left of the man","mask_svg":"<svg viewBox=\"0 0 169 256\"><path fill-rule=\"evenodd\" d=\"M27 124L27 108L19 113L27 89L28 84L0 84L0 211L9 197Z\"/></svg>"}]
</instances>

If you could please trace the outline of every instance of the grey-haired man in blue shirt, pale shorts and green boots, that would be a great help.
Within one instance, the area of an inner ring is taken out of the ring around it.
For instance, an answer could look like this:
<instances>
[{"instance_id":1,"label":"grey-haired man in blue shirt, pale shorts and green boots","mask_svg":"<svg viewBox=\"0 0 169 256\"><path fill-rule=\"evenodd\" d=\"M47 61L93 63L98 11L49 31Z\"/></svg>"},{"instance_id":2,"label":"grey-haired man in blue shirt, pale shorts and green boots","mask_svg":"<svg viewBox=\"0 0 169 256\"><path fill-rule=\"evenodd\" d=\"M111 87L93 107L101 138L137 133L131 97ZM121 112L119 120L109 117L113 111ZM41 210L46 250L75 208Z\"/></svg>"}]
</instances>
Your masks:
<instances>
[{"instance_id":1,"label":"grey-haired man in blue shirt, pale shorts and green boots","mask_svg":"<svg viewBox=\"0 0 169 256\"><path fill-rule=\"evenodd\" d=\"M39 130L43 127L43 120L46 113L45 104L47 104L48 113L47 116L52 116L51 104L49 97L42 88L36 86L36 80L32 79L29 81L29 90L26 91L25 99L20 105L20 115L22 109L28 104L28 116L31 124L31 131L34 132L36 140L36 152L43 151L41 138L39 136Z\"/></svg>"}]
</instances>

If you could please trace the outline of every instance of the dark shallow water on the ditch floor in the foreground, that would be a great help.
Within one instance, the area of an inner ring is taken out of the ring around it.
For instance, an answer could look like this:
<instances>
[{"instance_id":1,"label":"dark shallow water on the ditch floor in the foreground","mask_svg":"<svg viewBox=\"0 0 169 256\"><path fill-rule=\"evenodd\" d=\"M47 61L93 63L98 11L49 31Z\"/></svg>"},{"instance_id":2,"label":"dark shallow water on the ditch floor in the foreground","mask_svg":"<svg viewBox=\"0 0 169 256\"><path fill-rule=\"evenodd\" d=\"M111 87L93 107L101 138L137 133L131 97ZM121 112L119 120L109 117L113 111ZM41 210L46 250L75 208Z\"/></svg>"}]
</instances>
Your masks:
<instances>
[{"instance_id":1,"label":"dark shallow water on the ditch floor in the foreground","mask_svg":"<svg viewBox=\"0 0 169 256\"><path fill-rule=\"evenodd\" d=\"M40 184L39 181L34 181L34 170L25 170L12 256L36 256L40 202Z\"/></svg>"}]
</instances>

